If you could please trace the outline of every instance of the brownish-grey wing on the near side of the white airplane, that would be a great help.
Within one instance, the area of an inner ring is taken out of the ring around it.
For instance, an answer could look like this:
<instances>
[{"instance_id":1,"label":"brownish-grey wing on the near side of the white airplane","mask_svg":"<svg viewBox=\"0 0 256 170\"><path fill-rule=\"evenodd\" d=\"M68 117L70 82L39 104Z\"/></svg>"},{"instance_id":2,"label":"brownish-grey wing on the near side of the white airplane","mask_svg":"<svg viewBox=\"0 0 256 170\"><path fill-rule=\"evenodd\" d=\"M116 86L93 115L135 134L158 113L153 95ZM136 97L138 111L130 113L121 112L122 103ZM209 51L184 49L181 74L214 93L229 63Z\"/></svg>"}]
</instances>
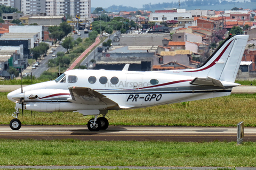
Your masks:
<instances>
[{"instance_id":1,"label":"brownish-grey wing on the near side of the white airplane","mask_svg":"<svg viewBox=\"0 0 256 170\"><path fill-rule=\"evenodd\" d=\"M120 109L115 101L107 98L91 88L69 87L71 98L68 101L85 105L107 105L107 108Z\"/></svg>"}]
</instances>

